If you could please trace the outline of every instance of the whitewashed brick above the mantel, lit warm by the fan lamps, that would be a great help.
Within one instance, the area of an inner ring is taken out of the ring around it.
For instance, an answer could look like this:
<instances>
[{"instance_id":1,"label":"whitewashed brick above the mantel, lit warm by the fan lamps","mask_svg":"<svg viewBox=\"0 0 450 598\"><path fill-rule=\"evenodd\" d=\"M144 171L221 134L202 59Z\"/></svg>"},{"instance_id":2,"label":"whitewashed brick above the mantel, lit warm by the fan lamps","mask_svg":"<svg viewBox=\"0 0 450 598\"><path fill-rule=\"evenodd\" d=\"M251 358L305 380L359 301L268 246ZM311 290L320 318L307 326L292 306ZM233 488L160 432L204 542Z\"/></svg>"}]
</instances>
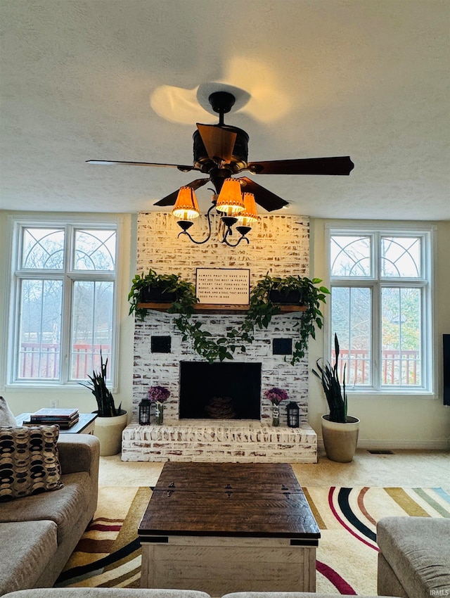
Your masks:
<instances>
[{"instance_id":1,"label":"whitewashed brick above the mantel, lit warm by the fan lamps","mask_svg":"<svg viewBox=\"0 0 450 598\"><path fill-rule=\"evenodd\" d=\"M189 232L201 240L206 236L206 219L200 216L194 222ZM213 229L217 222L212 215ZM179 231L170 213L140 212L138 272L153 267L162 274L181 274L194 284L195 268L249 268L250 284L266 272L274 276L309 274L309 219L303 216L264 215L249 234L250 245L244 242L236 248L212 239L195 245L183 236L177 238Z\"/></svg>"}]
</instances>

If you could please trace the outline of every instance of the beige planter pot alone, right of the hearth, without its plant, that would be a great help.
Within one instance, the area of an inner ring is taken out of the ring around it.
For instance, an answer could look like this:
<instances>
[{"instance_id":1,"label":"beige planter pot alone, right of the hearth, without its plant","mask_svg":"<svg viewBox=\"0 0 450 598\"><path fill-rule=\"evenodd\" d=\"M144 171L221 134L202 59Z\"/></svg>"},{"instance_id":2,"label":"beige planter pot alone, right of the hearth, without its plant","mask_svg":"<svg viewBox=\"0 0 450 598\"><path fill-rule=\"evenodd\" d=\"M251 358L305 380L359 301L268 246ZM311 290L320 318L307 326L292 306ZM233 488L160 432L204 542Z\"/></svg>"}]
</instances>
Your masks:
<instances>
[{"instance_id":1,"label":"beige planter pot alone, right of the hearth, without its plant","mask_svg":"<svg viewBox=\"0 0 450 598\"><path fill-rule=\"evenodd\" d=\"M322 416L322 438L326 456L330 461L349 463L354 457L358 443L359 419L347 415L347 423L330 421Z\"/></svg>"}]
</instances>

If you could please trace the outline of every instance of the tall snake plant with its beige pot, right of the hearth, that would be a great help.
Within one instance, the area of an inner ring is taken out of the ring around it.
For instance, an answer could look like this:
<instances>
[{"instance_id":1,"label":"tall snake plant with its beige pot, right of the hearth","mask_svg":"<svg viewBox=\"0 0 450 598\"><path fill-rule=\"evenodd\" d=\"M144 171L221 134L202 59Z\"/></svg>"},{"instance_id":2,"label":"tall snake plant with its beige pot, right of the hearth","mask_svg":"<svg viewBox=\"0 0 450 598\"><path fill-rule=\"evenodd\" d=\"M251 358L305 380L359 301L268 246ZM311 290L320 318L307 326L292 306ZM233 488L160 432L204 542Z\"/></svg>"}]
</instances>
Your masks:
<instances>
[{"instance_id":1,"label":"tall snake plant with its beige pot, right of the hearth","mask_svg":"<svg viewBox=\"0 0 450 598\"><path fill-rule=\"evenodd\" d=\"M326 362L319 370L312 373L319 378L325 393L330 413L322 416L322 438L326 456L331 461L349 463L354 457L359 435L359 419L347 414L347 393L345 390L345 366L342 374L342 386L339 379L339 342L335 334L335 364Z\"/></svg>"}]
</instances>

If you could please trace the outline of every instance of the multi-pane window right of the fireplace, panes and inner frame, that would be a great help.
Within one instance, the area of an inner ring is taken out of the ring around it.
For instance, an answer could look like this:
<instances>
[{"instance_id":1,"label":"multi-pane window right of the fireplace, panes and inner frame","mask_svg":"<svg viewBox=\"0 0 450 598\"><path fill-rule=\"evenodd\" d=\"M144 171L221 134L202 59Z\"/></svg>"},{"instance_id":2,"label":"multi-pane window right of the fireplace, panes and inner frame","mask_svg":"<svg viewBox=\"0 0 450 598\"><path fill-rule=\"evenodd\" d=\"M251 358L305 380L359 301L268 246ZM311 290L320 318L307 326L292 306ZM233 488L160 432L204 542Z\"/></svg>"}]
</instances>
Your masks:
<instances>
[{"instance_id":1,"label":"multi-pane window right of the fireplace, panes and inner frame","mask_svg":"<svg viewBox=\"0 0 450 598\"><path fill-rule=\"evenodd\" d=\"M347 390L432 392L431 230L330 227L330 346Z\"/></svg>"}]
</instances>

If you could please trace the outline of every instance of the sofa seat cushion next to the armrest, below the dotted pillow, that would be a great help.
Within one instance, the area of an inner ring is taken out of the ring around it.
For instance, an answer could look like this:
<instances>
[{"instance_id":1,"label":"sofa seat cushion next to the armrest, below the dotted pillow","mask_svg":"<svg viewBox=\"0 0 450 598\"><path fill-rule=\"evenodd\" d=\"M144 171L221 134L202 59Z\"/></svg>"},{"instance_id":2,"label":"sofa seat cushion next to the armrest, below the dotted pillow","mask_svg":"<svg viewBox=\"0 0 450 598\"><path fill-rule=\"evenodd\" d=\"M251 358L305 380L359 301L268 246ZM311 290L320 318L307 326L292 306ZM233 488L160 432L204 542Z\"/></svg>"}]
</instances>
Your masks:
<instances>
[{"instance_id":1,"label":"sofa seat cushion next to the armrest, below the dotted pillow","mask_svg":"<svg viewBox=\"0 0 450 598\"><path fill-rule=\"evenodd\" d=\"M58 526L58 545L65 540L81 514L89 505L91 481L89 473L68 473L63 476L64 488L58 492L27 496L0 504L0 521L43 521Z\"/></svg>"}]
</instances>

